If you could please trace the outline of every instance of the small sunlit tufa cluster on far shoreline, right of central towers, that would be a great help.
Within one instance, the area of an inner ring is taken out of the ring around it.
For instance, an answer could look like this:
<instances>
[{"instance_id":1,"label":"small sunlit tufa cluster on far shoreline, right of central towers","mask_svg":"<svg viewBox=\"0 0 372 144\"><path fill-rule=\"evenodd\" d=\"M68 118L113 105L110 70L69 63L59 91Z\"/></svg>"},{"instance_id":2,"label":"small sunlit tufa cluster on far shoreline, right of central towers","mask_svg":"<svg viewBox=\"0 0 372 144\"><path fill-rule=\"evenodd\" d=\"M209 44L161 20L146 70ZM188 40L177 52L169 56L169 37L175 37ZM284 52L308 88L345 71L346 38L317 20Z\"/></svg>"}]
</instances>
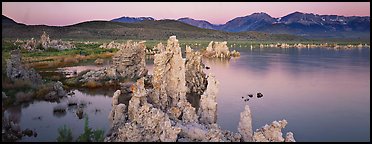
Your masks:
<instances>
[{"instance_id":1,"label":"small sunlit tufa cluster on far shoreline, right of central towers","mask_svg":"<svg viewBox=\"0 0 372 144\"><path fill-rule=\"evenodd\" d=\"M213 42L211 41L206 48L204 56L209 58L231 58L231 57L239 57L240 53L233 50L232 52L229 51L229 47L227 47L227 42Z\"/></svg>"}]
</instances>

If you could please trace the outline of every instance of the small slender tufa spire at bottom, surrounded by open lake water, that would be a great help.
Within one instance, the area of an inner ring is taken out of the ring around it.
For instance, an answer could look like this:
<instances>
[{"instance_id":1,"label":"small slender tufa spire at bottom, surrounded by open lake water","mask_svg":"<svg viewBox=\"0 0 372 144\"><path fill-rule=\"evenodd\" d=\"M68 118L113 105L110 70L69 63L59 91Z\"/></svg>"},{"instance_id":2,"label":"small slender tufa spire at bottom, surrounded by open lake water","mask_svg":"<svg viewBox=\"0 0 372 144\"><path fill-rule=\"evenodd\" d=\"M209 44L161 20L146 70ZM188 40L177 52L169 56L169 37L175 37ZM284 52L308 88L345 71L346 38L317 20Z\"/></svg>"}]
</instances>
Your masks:
<instances>
[{"instance_id":1,"label":"small slender tufa spire at bottom, surrounded by open lake water","mask_svg":"<svg viewBox=\"0 0 372 144\"><path fill-rule=\"evenodd\" d=\"M240 113L238 132L242 135L242 141L252 141L252 114L248 105L246 105L244 111Z\"/></svg>"}]
</instances>

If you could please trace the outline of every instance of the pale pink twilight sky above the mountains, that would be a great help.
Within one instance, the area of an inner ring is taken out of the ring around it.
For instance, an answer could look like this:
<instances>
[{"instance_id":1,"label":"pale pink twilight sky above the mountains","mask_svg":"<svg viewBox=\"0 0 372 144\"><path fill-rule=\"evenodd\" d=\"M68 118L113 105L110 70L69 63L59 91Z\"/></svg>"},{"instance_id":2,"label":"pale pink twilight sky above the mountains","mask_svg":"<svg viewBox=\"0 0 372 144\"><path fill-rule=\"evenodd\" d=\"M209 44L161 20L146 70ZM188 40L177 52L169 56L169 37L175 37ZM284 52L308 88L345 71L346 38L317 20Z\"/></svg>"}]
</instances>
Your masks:
<instances>
[{"instance_id":1,"label":"pale pink twilight sky above the mountains","mask_svg":"<svg viewBox=\"0 0 372 144\"><path fill-rule=\"evenodd\" d=\"M212 24L255 12L278 18L299 11L320 15L370 16L370 2L2 2L2 14L19 23L72 25L122 16L178 19Z\"/></svg>"}]
</instances>

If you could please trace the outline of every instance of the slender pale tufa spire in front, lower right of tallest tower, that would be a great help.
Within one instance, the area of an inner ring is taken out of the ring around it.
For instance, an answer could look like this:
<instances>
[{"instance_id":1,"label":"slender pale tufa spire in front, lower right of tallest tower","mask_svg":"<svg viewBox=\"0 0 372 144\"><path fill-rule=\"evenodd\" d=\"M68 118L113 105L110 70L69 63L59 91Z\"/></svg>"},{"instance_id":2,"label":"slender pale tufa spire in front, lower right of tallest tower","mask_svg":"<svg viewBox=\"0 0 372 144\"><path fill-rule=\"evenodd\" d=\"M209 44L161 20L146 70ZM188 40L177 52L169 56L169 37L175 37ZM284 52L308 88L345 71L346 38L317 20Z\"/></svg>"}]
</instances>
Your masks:
<instances>
[{"instance_id":1,"label":"slender pale tufa spire in front, lower right of tallest tower","mask_svg":"<svg viewBox=\"0 0 372 144\"><path fill-rule=\"evenodd\" d=\"M199 120L203 124L213 124L217 122L217 93L219 82L215 76L208 75L208 86L200 97L200 107L198 110Z\"/></svg>"}]
</instances>

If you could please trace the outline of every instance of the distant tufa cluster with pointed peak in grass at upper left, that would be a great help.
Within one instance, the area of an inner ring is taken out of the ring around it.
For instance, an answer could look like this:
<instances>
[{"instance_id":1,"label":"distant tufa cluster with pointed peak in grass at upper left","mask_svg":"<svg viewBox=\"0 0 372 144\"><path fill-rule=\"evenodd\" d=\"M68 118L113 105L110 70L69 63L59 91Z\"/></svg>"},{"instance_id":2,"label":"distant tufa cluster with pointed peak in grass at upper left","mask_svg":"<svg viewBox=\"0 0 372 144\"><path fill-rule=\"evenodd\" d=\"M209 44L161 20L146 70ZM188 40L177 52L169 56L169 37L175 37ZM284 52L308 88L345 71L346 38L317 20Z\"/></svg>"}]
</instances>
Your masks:
<instances>
[{"instance_id":1,"label":"distant tufa cluster with pointed peak in grass at upper left","mask_svg":"<svg viewBox=\"0 0 372 144\"><path fill-rule=\"evenodd\" d=\"M62 40L50 40L49 35L43 32L40 37L40 41L36 41L34 38L26 41L26 44L21 46L28 51L41 51L42 49L53 48L57 50L65 50L75 48L70 42L64 42Z\"/></svg>"}]
</instances>

